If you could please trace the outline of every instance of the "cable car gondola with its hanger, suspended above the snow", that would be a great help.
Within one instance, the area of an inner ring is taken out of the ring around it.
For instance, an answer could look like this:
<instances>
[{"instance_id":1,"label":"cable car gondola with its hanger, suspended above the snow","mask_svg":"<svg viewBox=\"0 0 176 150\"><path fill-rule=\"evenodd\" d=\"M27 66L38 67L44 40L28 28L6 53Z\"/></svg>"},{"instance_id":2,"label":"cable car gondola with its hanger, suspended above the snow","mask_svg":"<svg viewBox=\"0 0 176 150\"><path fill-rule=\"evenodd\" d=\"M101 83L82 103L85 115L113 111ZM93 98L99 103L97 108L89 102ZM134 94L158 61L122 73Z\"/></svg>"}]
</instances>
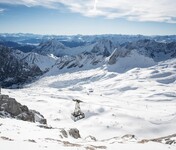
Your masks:
<instances>
[{"instance_id":1,"label":"cable car gondola with its hanger, suspended above the snow","mask_svg":"<svg viewBox=\"0 0 176 150\"><path fill-rule=\"evenodd\" d=\"M85 118L85 114L81 111L81 108L80 108L80 103L82 103L83 101L78 100L78 99L73 99L73 101L76 102L76 104L75 104L74 112L71 113L71 118L74 121L78 121L80 119Z\"/></svg>"}]
</instances>

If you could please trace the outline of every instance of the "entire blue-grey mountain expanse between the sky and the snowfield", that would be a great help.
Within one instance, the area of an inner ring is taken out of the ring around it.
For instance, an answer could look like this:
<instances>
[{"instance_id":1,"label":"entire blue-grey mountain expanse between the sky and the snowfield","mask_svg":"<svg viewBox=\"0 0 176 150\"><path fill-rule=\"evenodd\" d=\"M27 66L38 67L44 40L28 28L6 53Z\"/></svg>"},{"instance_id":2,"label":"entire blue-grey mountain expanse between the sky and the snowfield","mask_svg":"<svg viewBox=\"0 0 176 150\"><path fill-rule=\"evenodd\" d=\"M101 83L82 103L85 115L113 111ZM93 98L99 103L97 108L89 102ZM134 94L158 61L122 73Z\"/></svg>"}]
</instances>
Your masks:
<instances>
[{"instance_id":1,"label":"entire blue-grey mountain expanse between the sky and the snowfield","mask_svg":"<svg viewBox=\"0 0 176 150\"><path fill-rule=\"evenodd\" d=\"M90 69L116 64L120 67L118 61L123 62L121 58L128 57L133 58L130 61L136 61L133 65L129 64L133 68L140 66L140 58L150 59L142 63L150 62L152 65L154 62L176 57L175 35L0 34L0 45L0 83L5 87L28 82L29 79L42 75L53 67L57 67L58 70L67 69L68 72L71 68Z\"/></svg>"}]
</instances>

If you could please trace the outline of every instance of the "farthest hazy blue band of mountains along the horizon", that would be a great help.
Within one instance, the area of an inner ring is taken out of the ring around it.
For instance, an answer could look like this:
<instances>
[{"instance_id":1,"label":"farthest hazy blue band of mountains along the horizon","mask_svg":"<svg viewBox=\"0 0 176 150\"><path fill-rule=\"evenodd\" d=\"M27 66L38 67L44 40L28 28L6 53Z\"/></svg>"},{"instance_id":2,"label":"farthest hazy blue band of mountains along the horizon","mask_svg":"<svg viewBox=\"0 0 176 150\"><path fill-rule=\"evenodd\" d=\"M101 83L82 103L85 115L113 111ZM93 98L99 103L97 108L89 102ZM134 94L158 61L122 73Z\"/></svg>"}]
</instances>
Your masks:
<instances>
[{"instance_id":1,"label":"farthest hazy blue band of mountains along the horizon","mask_svg":"<svg viewBox=\"0 0 176 150\"><path fill-rule=\"evenodd\" d=\"M166 36L143 36L143 35L121 35L121 34L105 34L105 35L36 35L36 34L9 34L1 33L0 41L13 41L20 44L39 44L43 40L57 39L67 47L83 46L86 43L95 43L99 40L111 40L119 44L126 42L134 42L144 39L152 39L158 42L173 42L176 41L176 35Z\"/></svg>"}]
</instances>

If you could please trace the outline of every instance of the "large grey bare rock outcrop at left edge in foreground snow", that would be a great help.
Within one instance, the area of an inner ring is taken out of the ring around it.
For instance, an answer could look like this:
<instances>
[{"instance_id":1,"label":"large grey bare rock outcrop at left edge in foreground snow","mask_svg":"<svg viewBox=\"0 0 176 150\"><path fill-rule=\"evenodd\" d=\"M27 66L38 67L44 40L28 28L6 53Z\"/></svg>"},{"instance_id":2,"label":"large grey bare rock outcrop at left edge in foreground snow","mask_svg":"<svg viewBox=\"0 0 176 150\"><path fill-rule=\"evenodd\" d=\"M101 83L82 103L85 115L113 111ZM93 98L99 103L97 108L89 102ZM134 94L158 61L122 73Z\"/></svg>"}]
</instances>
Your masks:
<instances>
[{"instance_id":1,"label":"large grey bare rock outcrop at left edge in foreground snow","mask_svg":"<svg viewBox=\"0 0 176 150\"><path fill-rule=\"evenodd\" d=\"M8 95L0 95L0 117L16 118L23 121L46 124L47 120L39 112L30 110Z\"/></svg>"}]
</instances>

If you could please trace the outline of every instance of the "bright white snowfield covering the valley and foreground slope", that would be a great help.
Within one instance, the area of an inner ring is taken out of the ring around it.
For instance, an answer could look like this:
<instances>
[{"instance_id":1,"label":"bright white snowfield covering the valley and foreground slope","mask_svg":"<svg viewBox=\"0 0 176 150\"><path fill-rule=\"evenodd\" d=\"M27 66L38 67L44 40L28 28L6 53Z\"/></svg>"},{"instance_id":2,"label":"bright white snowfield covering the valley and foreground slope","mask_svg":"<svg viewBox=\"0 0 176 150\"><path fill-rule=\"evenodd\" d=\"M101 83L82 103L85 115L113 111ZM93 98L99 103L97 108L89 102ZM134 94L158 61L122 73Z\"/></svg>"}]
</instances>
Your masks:
<instances>
[{"instance_id":1,"label":"bright white snowfield covering the valley and foreground slope","mask_svg":"<svg viewBox=\"0 0 176 150\"><path fill-rule=\"evenodd\" d=\"M0 118L0 148L175 150L176 144L141 141L176 133L176 59L159 63L141 59L134 64L130 68L87 66L69 69L69 73L54 66L23 89L2 89L3 94L43 114L48 128ZM86 117L77 122L71 119L72 99L83 101ZM79 129L81 138L61 137L62 128ZM129 134L135 137L123 137Z\"/></svg>"}]
</instances>

